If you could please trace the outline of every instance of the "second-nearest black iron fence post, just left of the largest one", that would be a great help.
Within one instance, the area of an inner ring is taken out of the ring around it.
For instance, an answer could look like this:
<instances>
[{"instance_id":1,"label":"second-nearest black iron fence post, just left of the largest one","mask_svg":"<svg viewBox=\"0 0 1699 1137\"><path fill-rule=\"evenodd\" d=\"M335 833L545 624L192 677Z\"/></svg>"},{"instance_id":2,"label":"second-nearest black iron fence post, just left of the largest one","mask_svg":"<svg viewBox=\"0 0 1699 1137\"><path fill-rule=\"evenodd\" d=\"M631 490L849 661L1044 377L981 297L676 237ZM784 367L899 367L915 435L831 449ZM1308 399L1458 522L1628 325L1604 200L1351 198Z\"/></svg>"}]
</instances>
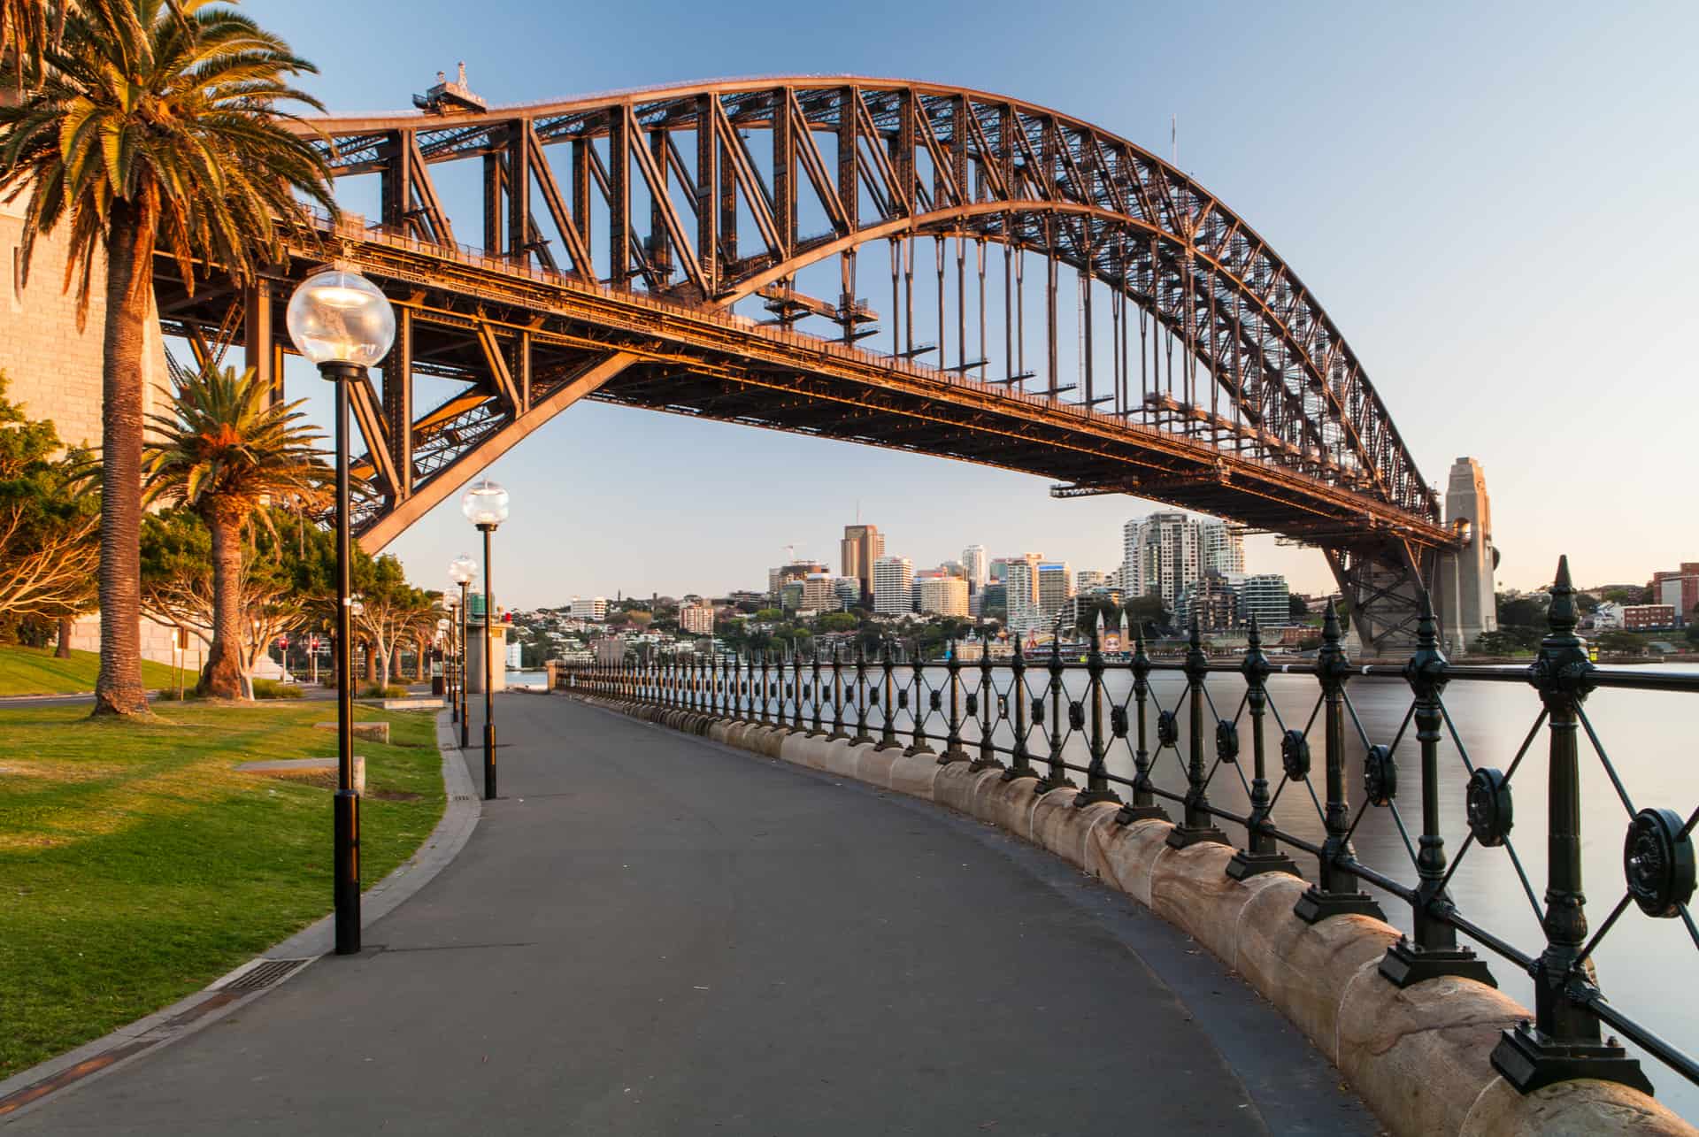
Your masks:
<instances>
[{"instance_id":1,"label":"second-nearest black iron fence post, just left of the largest one","mask_svg":"<svg viewBox=\"0 0 1699 1137\"><path fill-rule=\"evenodd\" d=\"M1458 947L1458 930L1442 919L1451 908L1446 894L1446 840L1439 834L1439 739L1444 717L1439 695L1446 690L1446 656L1439 649L1434 605L1422 593L1422 615L1415 625L1415 654L1403 665L1403 678L1415 697L1415 741L1422 750L1422 836L1415 853L1420 884L1410 906L1412 936L1400 936L1386 948L1380 972L1398 987L1439 976L1463 976L1497 987L1487 960Z\"/></svg>"}]
</instances>

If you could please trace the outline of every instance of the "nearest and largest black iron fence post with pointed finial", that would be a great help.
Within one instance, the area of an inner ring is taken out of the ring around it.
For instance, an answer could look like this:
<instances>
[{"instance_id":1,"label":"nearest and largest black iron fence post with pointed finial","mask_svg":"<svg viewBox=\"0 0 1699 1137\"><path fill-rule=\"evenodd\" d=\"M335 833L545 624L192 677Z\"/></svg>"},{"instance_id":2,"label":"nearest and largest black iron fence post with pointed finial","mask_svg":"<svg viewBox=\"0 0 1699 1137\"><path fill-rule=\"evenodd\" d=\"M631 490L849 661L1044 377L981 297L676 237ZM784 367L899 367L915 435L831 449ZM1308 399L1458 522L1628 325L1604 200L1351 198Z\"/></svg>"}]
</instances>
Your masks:
<instances>
[{"instance_id":1,"label":"nearest and largest black iron fence post with pointed finial","mask_svg":"<svg viewBox=\"0 0 1699 1137\"><path fill-rule=\"evenodd\" d=\"M1575 636L1575 586L1570 559L1558 561L1546 612L1548 636L1527 668L1527 682L1548 712L1549 783L1546 787L1546 950L1534 964L1534 1021L1504 1032L1493 1069L1522 1093L1572 1078L1599 1078L1651 1093L1640 1061L1616 1038L1599 1040L1599 1020L1585 1003L1599 993L1587 943L1587 897L1582 894L1582 780L1575 729L1580 705L1594 688L1587 644Z\"/></svg>"}]
</instances>

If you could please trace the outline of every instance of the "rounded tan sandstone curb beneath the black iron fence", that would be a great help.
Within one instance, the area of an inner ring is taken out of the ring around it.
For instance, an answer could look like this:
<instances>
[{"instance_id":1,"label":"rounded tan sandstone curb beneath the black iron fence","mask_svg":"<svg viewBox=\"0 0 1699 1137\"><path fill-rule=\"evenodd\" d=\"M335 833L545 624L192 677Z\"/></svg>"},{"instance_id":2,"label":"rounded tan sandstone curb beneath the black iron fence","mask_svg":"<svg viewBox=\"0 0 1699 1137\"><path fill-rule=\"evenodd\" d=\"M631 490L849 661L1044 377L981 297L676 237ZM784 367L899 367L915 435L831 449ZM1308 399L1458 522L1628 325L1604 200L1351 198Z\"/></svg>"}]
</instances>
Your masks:
<instances>
[{"instance_id":1,"label":"rounded tan sandstone curb beneath the black iron fence","mask_svg":"<svg viewBox=\"0 0 1699 1137\"><path fill-rule=\"evenodd\" d=\"M855 778L946 806L1041 845L1132 896L1210 948L1295 1023L1400 1135L1658 1134L1699 1137L1663 1105L1626 1086L1578 1079L1531 1095L1512 1089L1488 1055L1502 1030L1532 1013L1470 979L1431 979L1398 989L1380 960L1398 931L1368 916L1307 925L1293 914L1298 877L1227 875L1225 845L1167 845L1172 824L1115 824L1108 804L1074 807L1074 790L1036 795L1031 780L1002 782L967 761L902 756L872 744L809 738L573 693L590 705L658 722L810 770Z\"/></svg>"}]
</instances>

